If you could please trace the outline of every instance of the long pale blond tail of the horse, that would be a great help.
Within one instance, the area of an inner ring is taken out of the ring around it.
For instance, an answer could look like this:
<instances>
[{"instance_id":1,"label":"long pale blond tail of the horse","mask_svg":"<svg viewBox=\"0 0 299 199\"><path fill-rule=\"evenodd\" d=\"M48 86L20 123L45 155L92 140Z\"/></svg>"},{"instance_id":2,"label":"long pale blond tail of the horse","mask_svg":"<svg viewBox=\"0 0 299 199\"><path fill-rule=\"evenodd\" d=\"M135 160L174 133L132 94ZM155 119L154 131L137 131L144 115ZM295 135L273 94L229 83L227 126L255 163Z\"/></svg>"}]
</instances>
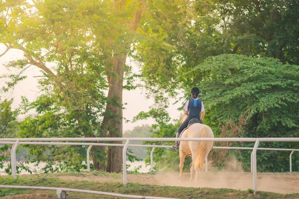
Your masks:
<instances>
[{"instance_id":1,"label":"long pale blond tail of the horse","mask_svg":"<svg viewBox=\"0 0 299 199\"><path fill-rule=\"evenodd\" d=\"M212 130L204 125L200 128L200 137L214 137ZM200 141L199 145L197 146L195 152L197 154L197 157L194 161L194 168L199 169L201 167L205 167L204 161L206 157L208 156L210 150L212 149L213 141Z\"/></svg>"}]
</instances>

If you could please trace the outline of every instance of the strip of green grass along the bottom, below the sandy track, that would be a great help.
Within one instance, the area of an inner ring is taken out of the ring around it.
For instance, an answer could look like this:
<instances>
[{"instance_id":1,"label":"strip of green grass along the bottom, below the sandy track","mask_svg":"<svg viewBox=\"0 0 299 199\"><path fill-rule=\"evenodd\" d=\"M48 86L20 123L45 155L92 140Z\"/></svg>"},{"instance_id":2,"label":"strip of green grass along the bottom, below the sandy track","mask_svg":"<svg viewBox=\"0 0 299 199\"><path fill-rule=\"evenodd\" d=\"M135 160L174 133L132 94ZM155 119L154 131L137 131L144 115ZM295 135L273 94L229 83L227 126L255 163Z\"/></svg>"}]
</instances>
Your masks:
<instances>
[{"instance_id":1,"label":"strip of green grass along the bottom, below the sandy track","mask_svg":"<svg viewBox=\"0 0 299 199\"><path fill-rule=\"evenodd\" d=\"M140 195L140 196L155 196L155 197L167 197L167 198L179 198L179 199L299 199L299 194L276 194L269 192L258 192L257 195L252 194L252 190L237 191L231 189L209 189L209 188L185 188L185 187L160 187L155 185L141 185L135 183L129 183L126 187L122 183L101 183L92 181L77 181L77 180L62 180L55 176L61 174L57 173L46 175L31 175L31 176L19 176L13 180L12 176L0 177L0 185L18 185L18 186L39 186L39 187L61 187L61 188L73 188L82 190L93 190L101 192L110 192L126 195ZM66 173L63 173L65 176ZM85 176L82 173L68 173L67 175L73 176ZM109 174L105 172L94 172L95 176L109 176L117 178L120 174ZM17 190L17 189L1 189L0 198L7 195L23 195L23 194L35 194L41 193L37 190ZM55 191L42 191L42 194L55 195ZM69 199L116 199L108 196L80 194L68 192ZM20 196L21 199L21 196Z\"/></svg>"}]
</instances>

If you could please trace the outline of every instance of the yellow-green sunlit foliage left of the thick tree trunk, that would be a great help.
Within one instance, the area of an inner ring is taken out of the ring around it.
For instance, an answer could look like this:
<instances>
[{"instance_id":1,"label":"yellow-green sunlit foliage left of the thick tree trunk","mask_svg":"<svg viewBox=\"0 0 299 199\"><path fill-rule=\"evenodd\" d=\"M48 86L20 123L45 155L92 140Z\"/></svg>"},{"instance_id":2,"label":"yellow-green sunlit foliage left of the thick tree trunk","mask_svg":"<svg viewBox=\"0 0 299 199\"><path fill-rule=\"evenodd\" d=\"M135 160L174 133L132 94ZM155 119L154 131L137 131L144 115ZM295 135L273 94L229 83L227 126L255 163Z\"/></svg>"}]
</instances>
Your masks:
<instances>
[{"instance_id":1,"label":"yellow-green sunlit foliage left of the thick tree trunk","mask_svg":"<svg viewBox=\"0 0 299 199\"><path fill-rule=\"evenodd\" d=\"M37 99L29 102L22 97L21 112L34 110L37 114L20 123L18 137L106 136L103 117L122 118L106 108L108 102L118 108L123 105L118 102L120 96L107 98L107 79L118 76L112 70L114 57L128 53L134 33L123 21L131 20L134 10L135 0L121 10L112 1L98 0L1 2L0 43L7 50L24 53L24 59L6 64L19 73L2 77L10 79L2 91L8 92L26 78L23 72L29 67L38 67L42 73ZM134 89L132 67L123 67L124 88ZM34 155L32 161L48 163L45 172L86 168L85 146L24 147ZM94 147L92 153L97 161L105 161L105 151Z\"/></svg>"}]
</instances>

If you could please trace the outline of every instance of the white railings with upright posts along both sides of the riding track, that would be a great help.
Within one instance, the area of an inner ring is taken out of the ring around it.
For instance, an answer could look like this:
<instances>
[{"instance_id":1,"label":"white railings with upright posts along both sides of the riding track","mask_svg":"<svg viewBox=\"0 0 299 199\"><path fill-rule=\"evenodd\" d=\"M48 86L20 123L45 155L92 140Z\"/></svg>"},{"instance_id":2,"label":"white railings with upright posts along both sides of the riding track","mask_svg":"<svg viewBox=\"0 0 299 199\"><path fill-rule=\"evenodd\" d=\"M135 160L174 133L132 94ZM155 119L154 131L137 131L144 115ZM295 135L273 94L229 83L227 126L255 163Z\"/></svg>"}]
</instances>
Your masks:
<instances>
[{"instance_id":1,"label":"white railings with upright posts along both sides of the riding track","mask_svg":"<svg viewBox=\"0 0 299 199\"><path fill-rule=\"evenodd\" d=\"M48 142L45 142L48 141ZM108 143L76 143L76 142L49 142L49 141L126 141L126 144L108 144ZM42 144L42 145L89 145L87 150L87 164L89 168L89 152L92 146L122 146L123 148L123 183L127 184L127 165L126 152L129 146L139 147L153 147L150 153L151 169L152 169L152 154L156 147L170 147L162 145L130 145L130 141L214 141L214 142L255 142L253 148L251 147L214 147L215 149L247 149L253 150L251 154L251 171L253 173L253 190L257 192L257 150L283 150L292 151L290 154L290 172L292 172L292 154L299 149L275 149L275 148L258 148L260 142L298 142L299 138L4 138L0 139L0 144L13 144L11 150L11 171L12 175L16 177L16 160L15 150L18 144ZM206 160L207 161L207 160ZM206 168L207 171L207 168Z\"/></svg>"}]
</instances>

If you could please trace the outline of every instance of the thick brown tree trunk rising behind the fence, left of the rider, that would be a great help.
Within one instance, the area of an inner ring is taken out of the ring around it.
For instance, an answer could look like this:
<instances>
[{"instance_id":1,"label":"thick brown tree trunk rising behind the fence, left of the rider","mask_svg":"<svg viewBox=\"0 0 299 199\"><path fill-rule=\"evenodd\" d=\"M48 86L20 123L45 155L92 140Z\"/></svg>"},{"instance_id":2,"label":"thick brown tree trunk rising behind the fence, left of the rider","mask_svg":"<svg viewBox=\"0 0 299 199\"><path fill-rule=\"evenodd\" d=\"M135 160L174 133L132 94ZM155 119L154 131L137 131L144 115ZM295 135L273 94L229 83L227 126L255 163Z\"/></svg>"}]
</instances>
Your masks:
<instances>
[{"instance_id":1,"label":"thick brown tree trunk rising behind the fence, left of the rider","mask_svg":"<svg viewBox=\"0 0 299 199\"><path fill-rule=\"evenodd\" d=\"M118 0L112 0L115 3L116 10L121 9L126 5L126 0L121 0L120 6L117 3ZM145 0L140 0L141 5L145 5ZM134 17L128 26L130 32L135 32L144 11L143 6L134 11ZM129 51L132 38L127 38L124 46ZM109 137L123 137L123 80L126 59L128 52L120 53L117 52L119 49L113 51L113 65L111 72L114 75L109 75L109 92L108 92L108 102L106 110L111 111L113 114L113 119L109 120ZM115 101L114 101L115 100ZM122 142L116 142L122 144ZM109 147L107 152L108 163L107 172L122 172L122 160L123 160L123 148L122 147Z\"/></svg>"}]
</instances>

